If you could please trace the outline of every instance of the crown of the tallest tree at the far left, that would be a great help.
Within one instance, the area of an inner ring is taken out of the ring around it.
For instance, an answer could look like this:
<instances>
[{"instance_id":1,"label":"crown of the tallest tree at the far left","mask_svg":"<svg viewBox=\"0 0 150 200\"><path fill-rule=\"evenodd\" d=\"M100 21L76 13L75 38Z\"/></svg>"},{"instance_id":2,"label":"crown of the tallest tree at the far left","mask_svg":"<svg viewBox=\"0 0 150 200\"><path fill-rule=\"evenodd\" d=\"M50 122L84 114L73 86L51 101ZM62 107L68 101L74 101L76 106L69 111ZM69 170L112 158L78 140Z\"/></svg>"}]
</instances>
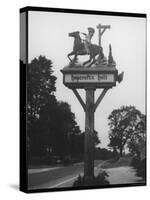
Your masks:
<instances>
[{"instance_id":1,"label":"crown of the tallest tree at the far left","mask_svg":"<svg viewBox=\"0 0 150 200\"><path fill-rule=\"evenodd\" d=\"M28 118L37 118L40 109L49 101L51 96L54 95L56 91L56 77L52 74L52 62L45 56L34 58L28 65Z\"/></svg>"}]
</instances>

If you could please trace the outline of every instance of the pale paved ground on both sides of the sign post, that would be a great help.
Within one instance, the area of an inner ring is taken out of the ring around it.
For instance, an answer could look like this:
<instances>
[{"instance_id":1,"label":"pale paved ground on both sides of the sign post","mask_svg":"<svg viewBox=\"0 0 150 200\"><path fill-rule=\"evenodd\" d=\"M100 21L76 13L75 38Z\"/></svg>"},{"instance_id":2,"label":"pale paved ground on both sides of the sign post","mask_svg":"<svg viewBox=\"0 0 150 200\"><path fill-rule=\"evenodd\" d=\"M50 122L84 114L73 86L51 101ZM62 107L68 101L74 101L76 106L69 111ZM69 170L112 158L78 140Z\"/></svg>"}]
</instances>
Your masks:
<instances>
[{"instance_id":1,"label":"pale paved ground on both sides of the sign post","mask_svg":"<svg viewBox=\"0 0 150 200\"><path fill-rule=\"evenodd\" d=\"M97 175L100 171L105 170L109 175L109 183L128 184L141 182L142 179L137 177L135 170L130 166L121 166L102 169L107 161L97 160L94 165L94 173ZM83 175L83 163L76 163L66 167L30 169L28 171L29 189L47 189L72 187L73 182L78 175Z\"/></svg>"}]
</instances>

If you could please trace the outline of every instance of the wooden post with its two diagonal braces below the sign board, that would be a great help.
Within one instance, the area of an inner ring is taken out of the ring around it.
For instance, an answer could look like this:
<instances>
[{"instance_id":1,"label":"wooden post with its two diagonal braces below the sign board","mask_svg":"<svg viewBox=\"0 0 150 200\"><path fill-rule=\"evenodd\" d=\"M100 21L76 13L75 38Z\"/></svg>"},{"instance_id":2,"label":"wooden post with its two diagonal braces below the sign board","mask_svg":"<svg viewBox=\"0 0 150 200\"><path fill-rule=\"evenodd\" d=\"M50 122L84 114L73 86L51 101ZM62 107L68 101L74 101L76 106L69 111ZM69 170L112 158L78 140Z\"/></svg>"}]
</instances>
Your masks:
<instances>
[{"instance_id":1,"label":"wooden post with its two diagonal braces below the sign board","mask_svg":"<svg viewBox=\"0 0 150 200\"><path fill-rule=\"evenodd\" d=\"M94 112L105 96L107 89L94 102L96 88L86 88L86 103L82 100L76 89L72 89L85 111L85 136L84 136L84 181L87 185L94 179Z\"/></svg>"}]
</instances>

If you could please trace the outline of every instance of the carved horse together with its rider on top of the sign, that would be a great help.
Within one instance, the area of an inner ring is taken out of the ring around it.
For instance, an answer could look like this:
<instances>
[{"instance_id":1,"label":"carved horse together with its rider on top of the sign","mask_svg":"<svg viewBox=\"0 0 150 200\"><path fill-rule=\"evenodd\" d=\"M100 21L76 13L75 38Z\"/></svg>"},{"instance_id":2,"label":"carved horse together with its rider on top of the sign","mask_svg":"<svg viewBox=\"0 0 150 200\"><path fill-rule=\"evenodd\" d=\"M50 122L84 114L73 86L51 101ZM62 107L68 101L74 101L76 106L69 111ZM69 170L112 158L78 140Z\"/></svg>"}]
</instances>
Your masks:
<instances>
[{"instance_id":1,"label":"carved horse together with its rider on top of the sign","mask_svg":"<svg viewBox=\"0 0 150 200\"><path fill-rule=\"evenodd\" d=\"M102 47L91 43L91 39L94 33L95 33L94 28L89 27L88 34L81 33L85 37L85 39L83 40L80 37L79 31L69 33L69 37L74 38L73 51L68 54L71 66L77 61L78 55L89 55L89 59L83 63L83 65L90 63L88 67L90 67L92 64L96 62L97 55L99 55L101 59L104 59ZM73 55L74 58L71 59L70 57Z\"/></svg>"}]
</instances>

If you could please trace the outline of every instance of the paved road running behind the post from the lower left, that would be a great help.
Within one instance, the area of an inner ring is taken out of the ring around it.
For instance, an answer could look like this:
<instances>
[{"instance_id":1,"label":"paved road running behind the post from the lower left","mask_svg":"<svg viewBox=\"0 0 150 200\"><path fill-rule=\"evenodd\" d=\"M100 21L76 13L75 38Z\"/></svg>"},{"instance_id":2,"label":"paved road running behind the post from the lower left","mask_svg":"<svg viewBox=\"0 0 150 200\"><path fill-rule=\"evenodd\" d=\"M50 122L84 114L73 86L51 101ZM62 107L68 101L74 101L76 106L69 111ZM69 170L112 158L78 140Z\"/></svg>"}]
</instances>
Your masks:
<instances>
[{"instance_id":1,"label":"paved road running behind the post from the lower left","mask_svg":"<svg viewBox=\"0 0 150 200\"><path fill-rule=\"evenodd\" d=\"M104 161L95 161L95 172ZM29 189L71 187L78 175L83 175L83 163L66 167L35 169L28 171Z\"/></svg>"}]
</instances>

